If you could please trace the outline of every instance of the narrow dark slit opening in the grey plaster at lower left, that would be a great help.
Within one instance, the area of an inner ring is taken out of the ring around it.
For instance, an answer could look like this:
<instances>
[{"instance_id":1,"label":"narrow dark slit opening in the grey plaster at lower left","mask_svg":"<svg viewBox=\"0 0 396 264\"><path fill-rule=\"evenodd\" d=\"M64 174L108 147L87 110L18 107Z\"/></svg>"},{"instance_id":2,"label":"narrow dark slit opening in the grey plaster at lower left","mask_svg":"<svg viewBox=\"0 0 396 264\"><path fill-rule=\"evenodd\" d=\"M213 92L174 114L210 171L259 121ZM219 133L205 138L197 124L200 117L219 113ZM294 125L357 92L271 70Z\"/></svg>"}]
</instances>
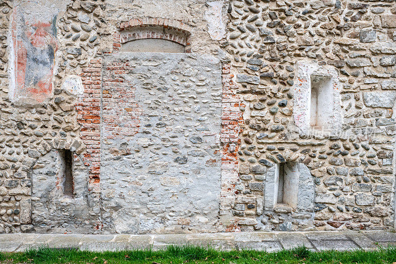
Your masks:
<instances>
[{"instance_id":1,"label":"narrow dark slit opening in the grey plaster at lower left","mask_svg":"<svg viewBox=\"0 0 396 264\"><path fill-rule=\"evenodd\" d=\"M70 150L59 151L60 168L59 176L60 184L63 189L63 195L74 197L74 178L73 178L73 159L74 155Z\"/></svg>"}]
</instances>

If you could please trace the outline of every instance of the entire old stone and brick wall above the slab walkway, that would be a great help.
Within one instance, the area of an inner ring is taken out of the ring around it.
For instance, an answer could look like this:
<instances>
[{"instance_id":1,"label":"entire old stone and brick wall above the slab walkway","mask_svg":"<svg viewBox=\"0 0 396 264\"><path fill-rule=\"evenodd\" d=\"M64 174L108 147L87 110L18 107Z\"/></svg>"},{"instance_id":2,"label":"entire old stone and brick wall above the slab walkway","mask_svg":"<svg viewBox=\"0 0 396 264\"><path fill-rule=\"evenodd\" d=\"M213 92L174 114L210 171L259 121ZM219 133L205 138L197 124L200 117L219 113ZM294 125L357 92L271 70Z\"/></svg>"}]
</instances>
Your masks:
<instances>
[{"instance_id":1,"label":"entire old stone and brick wall above the slab walkway","mask_svg":"<svg viewBox=\"0 0 396 264\"><path fill-rule=\"evenodd\" d=\"M0 0L0 233L393 228L395 21L391 0ZM186 53L122 48L144 39Z\"/></svg>"}]
</instances>

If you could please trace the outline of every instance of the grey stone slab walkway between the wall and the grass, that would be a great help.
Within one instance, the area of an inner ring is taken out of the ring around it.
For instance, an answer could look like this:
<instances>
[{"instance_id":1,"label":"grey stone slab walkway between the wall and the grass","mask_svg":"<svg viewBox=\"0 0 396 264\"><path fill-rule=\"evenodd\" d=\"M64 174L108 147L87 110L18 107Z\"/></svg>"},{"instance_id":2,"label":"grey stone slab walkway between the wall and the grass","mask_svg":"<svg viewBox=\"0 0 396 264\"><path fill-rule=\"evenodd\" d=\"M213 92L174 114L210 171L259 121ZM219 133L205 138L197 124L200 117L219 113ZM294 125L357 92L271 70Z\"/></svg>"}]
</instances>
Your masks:
<instances>
[{"instance_id":1,"label":"grey stone slab walkway between the wall and the grass","mask_svg":"<svg viewBox=\"0 0 396 264\"><path fill-rule=\"evenodd\" d=\"M375 249L396 245L396 233L386 231L341 232L238 232L169 235L0 234L0 251L21 252L29 248L76 248L117 251L137 248L160 249L168 245L211 245L221 250L255 249L268 252L298 245L317 250Z\"/></svg>"}]
</instances>

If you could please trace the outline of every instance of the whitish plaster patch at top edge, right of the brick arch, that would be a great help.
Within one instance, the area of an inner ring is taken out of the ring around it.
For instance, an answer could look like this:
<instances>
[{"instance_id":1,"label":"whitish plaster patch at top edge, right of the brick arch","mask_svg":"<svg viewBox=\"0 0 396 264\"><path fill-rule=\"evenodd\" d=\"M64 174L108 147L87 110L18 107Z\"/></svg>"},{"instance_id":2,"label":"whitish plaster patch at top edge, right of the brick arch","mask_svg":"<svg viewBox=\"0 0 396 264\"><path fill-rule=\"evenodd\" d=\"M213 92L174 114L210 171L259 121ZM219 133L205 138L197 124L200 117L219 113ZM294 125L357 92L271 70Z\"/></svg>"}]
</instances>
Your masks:
<instances>
[{"instance_id":1,"label":"whitish plaster patch at top edge, right of the brick arch","mask_svg":"<svg viewBox=\"0 0 396 264\"><path fill-rule=\"evenodd\" d=\"M209 5L205 12L205 19L208 22L208 33L212 40L221 40L226 34L221 9L223 1L207 2Z\"/></svg>"}]
</instances>

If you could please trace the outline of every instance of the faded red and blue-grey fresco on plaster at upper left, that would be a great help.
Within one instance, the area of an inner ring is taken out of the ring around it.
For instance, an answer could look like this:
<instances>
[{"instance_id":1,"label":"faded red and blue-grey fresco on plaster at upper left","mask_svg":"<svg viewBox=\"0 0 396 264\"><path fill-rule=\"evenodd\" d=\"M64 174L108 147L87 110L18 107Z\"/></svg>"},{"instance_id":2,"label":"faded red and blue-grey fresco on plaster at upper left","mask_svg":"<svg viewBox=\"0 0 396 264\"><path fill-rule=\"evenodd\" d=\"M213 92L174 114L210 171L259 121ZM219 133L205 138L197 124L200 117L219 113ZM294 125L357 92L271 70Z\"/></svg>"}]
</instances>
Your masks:
<instances>
[{"instance_id":1,"label":"faded red and blue-grey fresco on plaster at upper left","mask_svg":"<svg viewBox=\"0 0 396 264\"><path fill-rule=\"evenodd\" d=\"M43 102L52 95L58 8L40 9L40 2L23 2L13 10L11 21L12 102ZM35 10L31 12L31 10Z\"/></svg>"}]
</instances>

